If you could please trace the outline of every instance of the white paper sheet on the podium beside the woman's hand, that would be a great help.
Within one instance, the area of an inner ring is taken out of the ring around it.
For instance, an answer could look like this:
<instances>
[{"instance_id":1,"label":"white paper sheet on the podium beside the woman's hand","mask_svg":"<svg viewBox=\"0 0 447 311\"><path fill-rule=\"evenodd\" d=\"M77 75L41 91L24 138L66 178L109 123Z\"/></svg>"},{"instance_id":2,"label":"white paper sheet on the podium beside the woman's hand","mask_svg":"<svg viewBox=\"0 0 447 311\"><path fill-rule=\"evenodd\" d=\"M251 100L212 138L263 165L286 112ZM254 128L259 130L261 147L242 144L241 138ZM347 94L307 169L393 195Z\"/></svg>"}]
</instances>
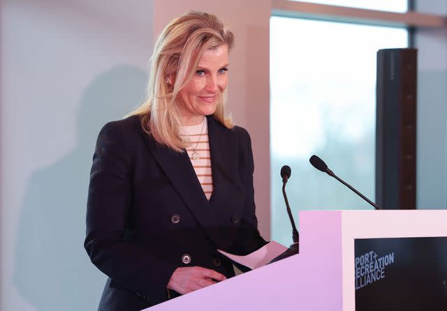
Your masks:
<instances>
[{"instance_id":1,"label":"white paper sheet on the podium beside the woman's hand","mask_svg":"<svg viewBox=\"0 0 447 311\"><path fill-rule=\"evenodd\" d=\"M242 264L251 269L256 269L261 266L265 266L272 259L278 257L286 250L286 246L281 245L275 241L271 241L270 243L265 244L259 250L256 250L251 254L245 256L233 255L223 250L217 251L220 252L222 255L225 255L229 259L237 262L238 264Z\"/></svg>"}]
</instances>

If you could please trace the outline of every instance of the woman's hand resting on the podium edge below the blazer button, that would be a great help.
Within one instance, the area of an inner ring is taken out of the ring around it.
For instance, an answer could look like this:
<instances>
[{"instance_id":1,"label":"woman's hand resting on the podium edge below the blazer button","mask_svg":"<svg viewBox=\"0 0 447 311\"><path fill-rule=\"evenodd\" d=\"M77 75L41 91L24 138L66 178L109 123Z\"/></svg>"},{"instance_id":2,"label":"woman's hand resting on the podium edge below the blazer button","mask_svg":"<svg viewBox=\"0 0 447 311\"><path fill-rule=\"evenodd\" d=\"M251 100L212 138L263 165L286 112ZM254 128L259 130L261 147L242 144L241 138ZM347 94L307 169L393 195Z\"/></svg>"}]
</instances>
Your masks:
<instances>
[{"instance_id":1,"label":"woman's hand resting on the podium edge below the blazer button","mask_svg":"<svg viewBox=\"0 0 447 311\"><path fill-rule=\"evenodd\" d=\"M179 294L188 294L223 280L226 280L225 275L214 270L199 266L182 267L175 269L168 282L168 289Z\"/></svg>"}]
</instances>

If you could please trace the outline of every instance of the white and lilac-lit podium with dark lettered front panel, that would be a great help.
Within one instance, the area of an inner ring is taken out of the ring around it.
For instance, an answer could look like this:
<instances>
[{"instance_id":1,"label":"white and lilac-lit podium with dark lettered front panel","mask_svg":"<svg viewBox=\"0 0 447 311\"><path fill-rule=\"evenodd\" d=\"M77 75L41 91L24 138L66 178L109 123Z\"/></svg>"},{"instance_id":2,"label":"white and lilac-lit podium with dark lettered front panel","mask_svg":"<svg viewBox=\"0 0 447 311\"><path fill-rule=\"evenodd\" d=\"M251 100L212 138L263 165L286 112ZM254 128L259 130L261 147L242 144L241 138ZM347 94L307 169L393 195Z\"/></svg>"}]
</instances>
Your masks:
<instances>
[{"instance_id":1,"label":"white and lilac-lit podium with dark lettered front panel","mask_svg":"<svg viewBox=\"0 0 447 311\"><path fill-rule=\"evenodd\" d=\"M301 211L300 254L146 310L388 307L447 310L447 211Z\"/></svg>"}]
</instances>

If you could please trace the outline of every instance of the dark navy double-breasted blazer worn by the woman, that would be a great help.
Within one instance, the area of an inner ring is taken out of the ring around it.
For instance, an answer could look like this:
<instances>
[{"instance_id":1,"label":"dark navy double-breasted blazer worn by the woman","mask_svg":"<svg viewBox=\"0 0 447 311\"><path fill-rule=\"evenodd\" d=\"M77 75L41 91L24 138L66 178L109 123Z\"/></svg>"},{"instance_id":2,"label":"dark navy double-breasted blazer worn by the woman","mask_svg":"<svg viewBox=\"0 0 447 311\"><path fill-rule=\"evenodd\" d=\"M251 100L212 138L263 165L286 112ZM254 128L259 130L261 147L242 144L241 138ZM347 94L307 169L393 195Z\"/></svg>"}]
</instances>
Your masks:
<instances>
[{"instance_id":1,"label":"dark navy double-breasted blazer worn by the woman","mask_svg":"<svg viewBox=\"0 0 447 311\"><path fill-rule=\"evenodd\" d=\"M90 173L85 249L108 275L98 310L141 310L178 296L176 268L227 278L217 249L246 255L265 245L257 229L249 134L207 117L214 190L210 201L186 152L158 144L131 116L98 135Z\"/></svg>"}]
</instances>

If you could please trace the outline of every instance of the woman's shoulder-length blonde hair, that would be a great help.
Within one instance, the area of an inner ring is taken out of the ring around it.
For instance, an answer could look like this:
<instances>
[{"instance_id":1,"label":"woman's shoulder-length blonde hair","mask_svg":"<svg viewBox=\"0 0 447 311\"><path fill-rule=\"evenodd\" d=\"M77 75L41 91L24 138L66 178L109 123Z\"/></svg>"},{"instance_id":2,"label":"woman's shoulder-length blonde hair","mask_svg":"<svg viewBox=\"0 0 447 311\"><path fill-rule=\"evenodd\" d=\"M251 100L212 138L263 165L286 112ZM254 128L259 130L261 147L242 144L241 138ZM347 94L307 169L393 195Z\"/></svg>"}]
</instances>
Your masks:
<instances>
[{"instance_id":1,"label":"woman's shoulder-length blonde hair","mask_svg":"<svg viewBox=\"0 0 447 311\"><path fill-rule=\"evenodd\" d=\"M188 146L189 142L179 134L181 114L177 95L193 77L203 52L220 45L226 45L228 50L233 48L233 33L217 16L195 11L170 22L156 40L147 98L129 116L140 116L142 129L160 144L180 152ZM226 114L226 101L224 91L213 116L226 128L233 128Z\"/></svg>"}]
</instances>

